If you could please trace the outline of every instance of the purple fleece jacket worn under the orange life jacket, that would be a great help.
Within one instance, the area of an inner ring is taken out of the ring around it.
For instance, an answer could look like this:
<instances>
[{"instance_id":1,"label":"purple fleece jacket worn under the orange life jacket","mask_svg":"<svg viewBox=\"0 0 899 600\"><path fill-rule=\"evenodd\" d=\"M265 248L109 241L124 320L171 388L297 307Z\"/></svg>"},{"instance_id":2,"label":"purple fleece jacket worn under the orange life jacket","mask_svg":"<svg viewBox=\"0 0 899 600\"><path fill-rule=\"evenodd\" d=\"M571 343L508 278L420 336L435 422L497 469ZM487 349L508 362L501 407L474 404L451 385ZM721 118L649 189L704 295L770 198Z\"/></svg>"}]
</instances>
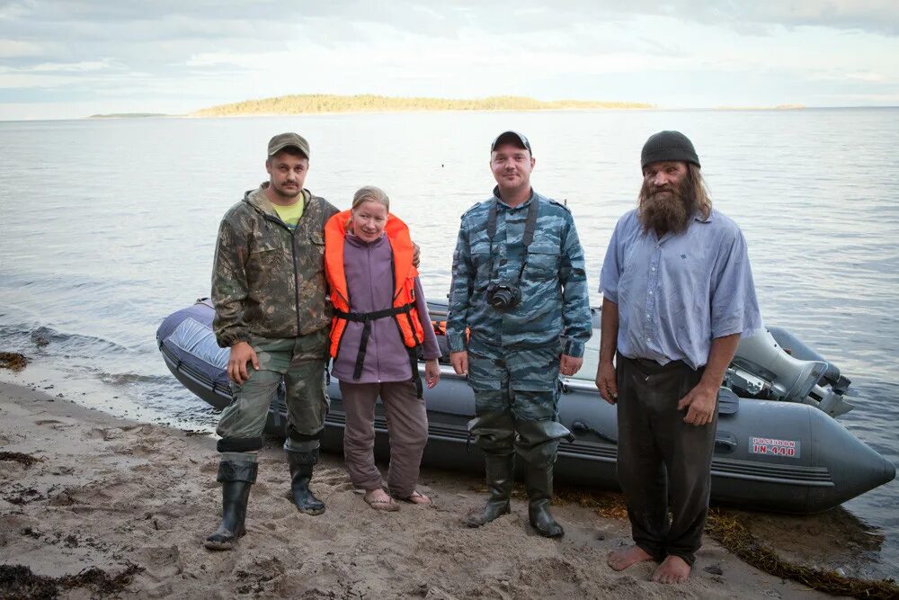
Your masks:
<instances>
[{"instance_id":1,"label":"purple fleece jacket worn under the orange life jacket","mask_svg":"<svg viewBox=\"0 0 899 600\"><path fill-rule=\"evenodd\" d=\"M370 244L347 233L343 242L343 271L350 292L351 312L373 312L393 305L393 252L386 236ZM440 348L431 325L428 303L424 299L422 282L415 278L415 308L424 330L423 357L439 358ZM350 321L343 332L340 350L334 359L331 374L347 383L377 383L379 381L407 381L412 377L409 353L403 336L392 317L371 321L371 336L365 352L365 363L358 380L352 379L356 354L362 338L362 323Z\"/></svg>"}]
</instances>

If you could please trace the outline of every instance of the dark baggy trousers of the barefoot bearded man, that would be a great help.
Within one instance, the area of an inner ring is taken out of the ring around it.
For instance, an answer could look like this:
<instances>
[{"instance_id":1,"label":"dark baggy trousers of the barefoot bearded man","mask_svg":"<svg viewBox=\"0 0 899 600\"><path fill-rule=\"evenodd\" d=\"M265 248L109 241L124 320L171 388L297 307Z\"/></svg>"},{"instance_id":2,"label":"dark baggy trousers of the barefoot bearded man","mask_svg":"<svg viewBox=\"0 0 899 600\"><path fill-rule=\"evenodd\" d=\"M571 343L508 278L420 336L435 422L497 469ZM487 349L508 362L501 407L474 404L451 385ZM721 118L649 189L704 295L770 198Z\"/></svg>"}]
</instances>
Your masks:
<instances>
[{"instance_id":1,"label":"dark baggy trousers of the barefoot bearded man","mask_svg":"<svg viewBox=\"0 0 899 600\"><path fill-rule=\"evenodd\" d=\"M634 542L654 560L674 555L692 565L702 544L717 409L708 425L688 425L677 404L703 371L618 355L619 483Z\"/></svg>"}]
</instances>

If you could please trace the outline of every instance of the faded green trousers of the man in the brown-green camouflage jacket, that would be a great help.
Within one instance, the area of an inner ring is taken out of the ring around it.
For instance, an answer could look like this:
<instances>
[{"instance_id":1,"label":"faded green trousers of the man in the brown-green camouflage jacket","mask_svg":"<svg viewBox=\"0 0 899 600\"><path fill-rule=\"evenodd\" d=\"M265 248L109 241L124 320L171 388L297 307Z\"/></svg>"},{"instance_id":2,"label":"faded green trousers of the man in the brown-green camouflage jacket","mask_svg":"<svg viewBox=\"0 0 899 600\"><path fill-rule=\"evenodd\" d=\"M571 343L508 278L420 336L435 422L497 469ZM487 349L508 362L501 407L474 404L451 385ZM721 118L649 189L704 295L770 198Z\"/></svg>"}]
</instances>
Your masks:
<instances>
[{"instance_id":1,"label":"faded green trousers of the man in the brown-green camouflage jacket","mask_svg":"<svg viewBox=\"0 0 899 600\"><path fill-rule=\"evenodd\" d=\"M327 329L322 329L308 336L284 339L251 337L259 370L250 365L249 379L242 385L231 382L234 401L218 420L217 433L222 442L259 438L263 434L268 408L281 379L287 389L289 437L312 439L320 434L329 405L325 393L327 334Z\"/></svg>"}]
</instances>

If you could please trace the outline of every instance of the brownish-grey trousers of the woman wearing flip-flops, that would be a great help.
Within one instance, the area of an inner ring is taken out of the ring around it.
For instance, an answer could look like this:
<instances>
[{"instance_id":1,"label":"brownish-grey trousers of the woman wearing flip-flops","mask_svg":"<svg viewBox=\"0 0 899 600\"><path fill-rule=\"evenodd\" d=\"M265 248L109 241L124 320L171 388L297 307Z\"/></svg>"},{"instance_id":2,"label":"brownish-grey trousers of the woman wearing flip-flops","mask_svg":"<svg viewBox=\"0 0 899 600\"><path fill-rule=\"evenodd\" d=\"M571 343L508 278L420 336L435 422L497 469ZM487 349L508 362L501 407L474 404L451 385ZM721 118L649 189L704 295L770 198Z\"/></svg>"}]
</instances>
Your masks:
<instances>
[{"instance_id":1,"label":"brownish-grey trousers of the woman wearing flip-flops","mask_svg":"<svg viewBox=\"0 0 899 600\"><path fill-rule=\"evenodd\" d=\"M387 416L390 465L387 488L396 497L409 497L418 483L424 446L428 442L428 414L412 381L388 383L340 382L346 429L343 455L352 485L378 489L381 473L375 466L375 401L378 395Z\"/></svg>"}]
</instances>

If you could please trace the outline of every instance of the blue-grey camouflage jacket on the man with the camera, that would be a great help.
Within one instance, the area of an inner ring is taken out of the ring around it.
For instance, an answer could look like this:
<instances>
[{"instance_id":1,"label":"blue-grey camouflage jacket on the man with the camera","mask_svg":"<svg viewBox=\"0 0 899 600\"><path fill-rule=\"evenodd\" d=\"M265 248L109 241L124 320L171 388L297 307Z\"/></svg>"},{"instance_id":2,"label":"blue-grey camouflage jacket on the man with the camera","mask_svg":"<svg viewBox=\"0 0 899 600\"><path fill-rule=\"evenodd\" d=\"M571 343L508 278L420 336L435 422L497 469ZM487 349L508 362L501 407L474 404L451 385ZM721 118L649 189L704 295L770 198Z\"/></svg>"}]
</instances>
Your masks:
<instances>
[{"instance_id":1,"label":"blue-grey camouflage jacket on the man with the camera","mask_svg":"<svg viewBox=\"0 0 899 600\"><path fill-rule=\"evenodd\" d=\"M479 345L510 349L556 344L562 352L583 356L592 334L583 248L571 212L554 200L531 193L511 208L498 197L476 204L462 215L453 254L447 340L450 352L466 349L466 327ZM524 260L521 237L531 202L539 202L537 229L521 274L521 301L500 312L487 302L490 282L512 282ZM496 235L487 237L487 218L496 202Z\"/></svg>"}]
</instances>

